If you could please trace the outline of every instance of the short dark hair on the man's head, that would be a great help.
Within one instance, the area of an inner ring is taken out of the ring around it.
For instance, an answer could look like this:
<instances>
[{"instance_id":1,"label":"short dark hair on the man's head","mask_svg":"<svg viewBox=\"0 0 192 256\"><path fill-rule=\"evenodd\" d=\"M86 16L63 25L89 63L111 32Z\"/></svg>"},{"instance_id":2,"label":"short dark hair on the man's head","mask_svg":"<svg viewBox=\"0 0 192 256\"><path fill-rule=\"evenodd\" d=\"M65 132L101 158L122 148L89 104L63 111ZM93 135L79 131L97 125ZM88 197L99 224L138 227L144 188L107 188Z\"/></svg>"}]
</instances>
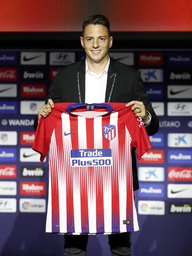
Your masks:
<instances>
[{"instance_id":1,"label":"short dark hair on the man's head","mask_svg":"<svg viewBox=\"0 0 192 256\"><path fill-rule=\"evenodd\" d=\"M108 33L110 35L110 22L108 18L102 14L95 14L93 16L88 17L83 21L82 25L82 34L84 33L85 27L87 25L102 25L105 26L108 30Z\"/></svg>"}]
</instances>

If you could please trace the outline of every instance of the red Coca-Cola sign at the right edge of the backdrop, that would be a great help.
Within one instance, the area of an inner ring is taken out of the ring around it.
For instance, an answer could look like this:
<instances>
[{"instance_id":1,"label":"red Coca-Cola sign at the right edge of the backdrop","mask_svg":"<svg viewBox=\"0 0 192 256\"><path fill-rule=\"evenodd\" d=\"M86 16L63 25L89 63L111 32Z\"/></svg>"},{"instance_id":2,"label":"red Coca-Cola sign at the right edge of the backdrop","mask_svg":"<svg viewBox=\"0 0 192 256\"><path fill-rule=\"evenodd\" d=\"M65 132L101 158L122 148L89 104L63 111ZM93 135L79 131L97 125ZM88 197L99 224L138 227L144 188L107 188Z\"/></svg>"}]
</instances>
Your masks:
<instances>
[{"instance_id":1,"label":"red Coca-Cola sign at the right edge of the backdrop","mask_svg":"<svg viewBox=\"0 0 192 256\"><path fill-rule=\"evenodd\" d=\"M192 180L192 168L190 167L169 167L168 180L188 182Z\"/></svg>"}]
</instances>

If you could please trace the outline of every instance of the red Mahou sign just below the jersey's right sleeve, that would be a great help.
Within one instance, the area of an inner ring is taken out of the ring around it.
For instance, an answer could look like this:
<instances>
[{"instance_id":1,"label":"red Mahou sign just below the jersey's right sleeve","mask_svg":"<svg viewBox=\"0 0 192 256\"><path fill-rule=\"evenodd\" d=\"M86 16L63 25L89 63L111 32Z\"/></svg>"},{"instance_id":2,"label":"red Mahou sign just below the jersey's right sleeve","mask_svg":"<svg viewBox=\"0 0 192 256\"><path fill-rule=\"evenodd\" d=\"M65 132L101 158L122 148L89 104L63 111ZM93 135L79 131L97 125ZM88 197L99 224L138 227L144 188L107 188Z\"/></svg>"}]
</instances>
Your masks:
<instances>
[{"instance_id":1,"label":"red Mahou sign just below the jersey's right sleeve","mask_svg":"<svg viewBox=\"0 0 192 256\"><path fill-rule=\"evenodd\" d=\"M164 151L149 150L141 157L139 163L164 163Z\"/></svg>"}]
</instances>

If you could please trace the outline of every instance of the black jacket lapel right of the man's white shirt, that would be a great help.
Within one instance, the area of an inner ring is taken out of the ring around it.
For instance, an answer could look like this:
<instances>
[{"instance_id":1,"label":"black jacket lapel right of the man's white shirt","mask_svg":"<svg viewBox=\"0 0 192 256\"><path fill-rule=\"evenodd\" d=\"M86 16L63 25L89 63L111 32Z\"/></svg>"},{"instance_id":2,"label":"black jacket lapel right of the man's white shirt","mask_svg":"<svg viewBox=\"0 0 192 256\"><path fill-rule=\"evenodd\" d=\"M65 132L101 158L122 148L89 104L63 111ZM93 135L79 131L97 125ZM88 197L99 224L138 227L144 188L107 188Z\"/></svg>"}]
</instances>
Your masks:
<instances>
[{"instance_id":1,"label":"black jacket lapel right of the man's white shirt","mask_svg":"<svg viewBox=\"0 0 192 256\"><path fill-rule=\"evenodd\" d=\"M108 102L110 91L113 86L115 76L116 76L116 64L115 64L115 61L110 58L110 64L109 64L109 69L108 69L108 74L107 74L107 87L106 87L105 102Z\"/></svg>"}]
</instances>

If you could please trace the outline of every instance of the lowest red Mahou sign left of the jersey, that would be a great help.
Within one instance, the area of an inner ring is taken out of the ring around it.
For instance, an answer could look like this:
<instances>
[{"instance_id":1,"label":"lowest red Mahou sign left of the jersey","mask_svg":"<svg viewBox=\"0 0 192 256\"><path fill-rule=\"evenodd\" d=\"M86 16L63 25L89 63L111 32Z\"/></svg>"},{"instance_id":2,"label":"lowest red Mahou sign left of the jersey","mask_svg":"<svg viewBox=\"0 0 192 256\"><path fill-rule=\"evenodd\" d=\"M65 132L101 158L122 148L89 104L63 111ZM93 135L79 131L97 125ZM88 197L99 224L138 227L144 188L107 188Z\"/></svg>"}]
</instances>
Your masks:
<instances>
[{"instance_id":1,"label":"lowest red Mahou sign left of the jersey","mask_svg":"<svg viewBox=\"0 0 192 256\"><path fill-rule=\"evenodd\" d=\"M20 194L45 195L45 182L21 182Z\"/></svg>"}]
</instances>

